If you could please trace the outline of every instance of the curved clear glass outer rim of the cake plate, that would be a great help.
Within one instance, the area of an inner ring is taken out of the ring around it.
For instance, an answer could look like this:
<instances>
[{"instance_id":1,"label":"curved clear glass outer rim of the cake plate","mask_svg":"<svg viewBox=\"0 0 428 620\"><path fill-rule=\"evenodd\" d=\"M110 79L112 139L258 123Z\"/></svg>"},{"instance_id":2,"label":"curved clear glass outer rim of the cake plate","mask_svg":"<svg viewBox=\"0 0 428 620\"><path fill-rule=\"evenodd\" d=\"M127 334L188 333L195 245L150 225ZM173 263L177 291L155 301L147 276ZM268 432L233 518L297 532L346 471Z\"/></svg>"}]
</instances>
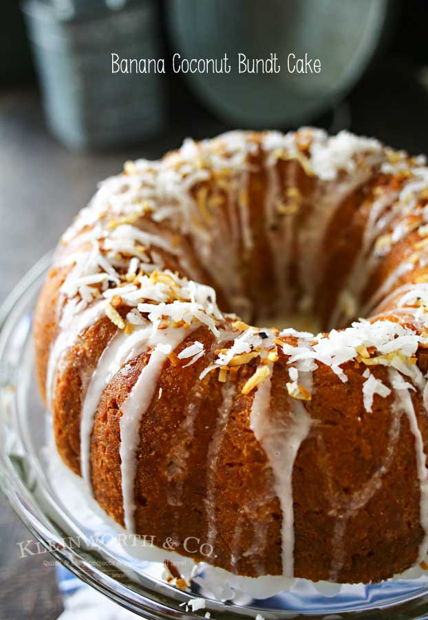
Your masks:
<instances>
[{"instance_id":1,"label":"curved clear glass outer rim of the cake plate","mask_svg":"<svg viewBox=\"0 0 428 620\"><path fill-rule=\"evenodd\" d=\"M19 316L21 304L28 300L34 293L34 288L40 284L39 279L43 276L43 273L50 267L52 262L52 252L46 254L36 262L34 267L25 274L20 280L19 284L13 289L12 293L6 298L0 307L0 363L4 360L5 349L8 344L8 338L10 332L13 329L16 316ZM3 385L0 384L0 390L3 389ZM0 403L1 404L1 403ZM6 419L3 412L3 407L0 411L0 439L3 442L3 434L5 433ZM178 607L178 601L174 600L175 597L168 597L166 594L160 592L153 592L150 588L142 586L141 579L138 580L138 590L143 590L144 593L133 589L124 583L121 583L117 579L110 577L107 573L96 568L81 554L80 549L73 548L65 544L64 539L61 537L61 533L58 532L58 525L54 524L47 515L43 514L40 506L34 501L30 493L30 489L25 486L23 480L19 477L16 469L12 466L10 459L3 451L0 451L0 486L3 492L9 499L12 508L14 508L17 515L21 518L25 526L28 527L32 535L36 537L41 544L47 548L47 550L64 564L69 570L71 570L76 577L88 583L99 592L107 595L110 599L116 601L121 606L132 610L140 615L143 615L149 619L167 619L175 617L180 620L189 620L191 618L200 618L193 612L185 612L182 608ZM39 484L43 485L43 482L39 480ZM93 552L93 550L92 550ZM117 571L117 566L113 566ZM125 575L126 579L129 579ZM147 579L147 581L149 581ZM134 586L136 584L133 584ZM155 595L153 597L153 595ZM180 602L191 600L193 597L186 592L177 592L177 599ZM169 603L168 605L165 603ZM171 603L175 603L176 606L170 607ZM213 601L209 601L213 603ZM211 606L211 605L210 605ZM248 616L254 616L257 613L257 608L247 608L247 610L236 608L236 606L229 606L224 603L219 603L218 606L211 606L211 609L215 609L217 617L222 617L225 620L236 620L239 617L248 618ZM394 618L397 620L407 620L410 618L416 618L422 616L428 611L428 593L416 594L414 597L403 597L402 600L396 599L393 606L373 608L371 610L344 610L341 612L333 613L335 618L361 618L365 620L380 619L385 617L385 611L394 613ZM283 612L272 612L266 610L259 610L259 612L265 612L267 618L286 618L297 617L300 615L306 620L320 619L321 617L328 617L328 612L311 612L310 614L296 614L290 610L290 614L285 610ZM412 615L409 615L412 614ZM416 615L417 614L417 615Z\"/></svg>"}]
</instances>

